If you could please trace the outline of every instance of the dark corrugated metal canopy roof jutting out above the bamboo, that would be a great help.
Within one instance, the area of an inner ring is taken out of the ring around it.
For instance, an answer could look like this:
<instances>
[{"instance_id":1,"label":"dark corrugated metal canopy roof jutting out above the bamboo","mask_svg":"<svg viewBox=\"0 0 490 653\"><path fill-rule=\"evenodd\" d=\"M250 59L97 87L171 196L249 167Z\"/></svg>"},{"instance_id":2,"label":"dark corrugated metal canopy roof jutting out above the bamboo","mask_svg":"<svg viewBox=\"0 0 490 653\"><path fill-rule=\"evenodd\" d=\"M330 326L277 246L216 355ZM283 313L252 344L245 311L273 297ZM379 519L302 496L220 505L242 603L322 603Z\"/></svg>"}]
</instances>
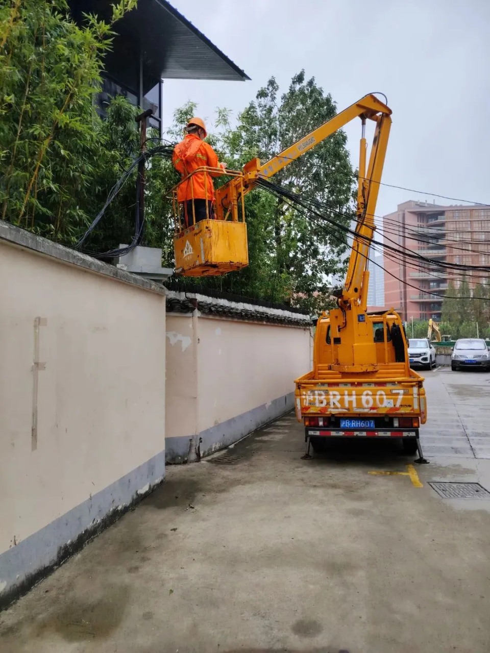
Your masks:
<instances>
[{"instance_id":1,"label":"dark corrugated metal canopy roof jutting out above the bamboo","mask_svg":"<svg viewBox=\"0 0 490 653\"><path fill-rule=\"evenodd\" d=\"M83 13L103 18L111 14L110 0L69 0L74 20ZM250 79L166 0L139 0L137 8L114 26L118 35L105 58L107 73L137 91L142 54L143 92L161 78L195 80Z\"/></svg>"}]
</instances>

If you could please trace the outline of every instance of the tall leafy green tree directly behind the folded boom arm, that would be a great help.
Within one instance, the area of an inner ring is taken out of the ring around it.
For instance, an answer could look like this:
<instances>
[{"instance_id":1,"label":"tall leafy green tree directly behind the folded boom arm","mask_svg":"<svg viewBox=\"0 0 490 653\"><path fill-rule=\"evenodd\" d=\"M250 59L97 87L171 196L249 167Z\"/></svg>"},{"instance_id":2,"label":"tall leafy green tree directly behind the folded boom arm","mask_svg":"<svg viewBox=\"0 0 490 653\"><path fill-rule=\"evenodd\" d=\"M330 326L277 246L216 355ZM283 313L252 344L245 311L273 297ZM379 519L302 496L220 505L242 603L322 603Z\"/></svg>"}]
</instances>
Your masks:
<instances>
[{"instance_id":1,"label":"tall leafy green tree directly behind the folded boom arm","mask_svg":"<svg viewBox=\"0 0 490 653\"><path fill-rule=\"evenodd\" d=\"M236 129L225 134L230 165L242 165L253 156L267 161L336 114L331 95L325 94L314 78L306 80L304 71L293 77L281 97L278 91L276 80L271 78L255 102L240 114ZM328 217L348 225L354 178L343 131L287 165L273 181L328 202L332 207ZM346 238L340 230L308 219L282 199L275 200L269 220L274 276L286 282L291 293L312 296L314 291L325 289L329 276L342 272Z\"/></svg>"}]
</instances>

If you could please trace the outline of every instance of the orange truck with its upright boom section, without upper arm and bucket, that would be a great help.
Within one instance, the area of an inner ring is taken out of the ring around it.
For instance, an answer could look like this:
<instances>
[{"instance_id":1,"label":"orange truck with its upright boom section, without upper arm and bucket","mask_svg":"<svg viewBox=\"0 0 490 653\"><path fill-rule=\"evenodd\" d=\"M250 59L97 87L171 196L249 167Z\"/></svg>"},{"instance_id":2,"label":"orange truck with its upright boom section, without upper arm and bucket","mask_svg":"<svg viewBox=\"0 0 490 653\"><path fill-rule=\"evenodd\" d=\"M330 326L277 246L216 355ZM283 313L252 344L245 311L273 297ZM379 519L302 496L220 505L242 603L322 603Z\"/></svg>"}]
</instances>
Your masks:
<instances>
[{"instance_id":1,"label":"orange truck with its upright boom section, without upper arm and bucket","mask_svg":"<svg viewBox=\"0 0 490 653\"><path fill-rule=\"evenodd\" d=\"M310 445L321 451L328 438L400 438L406 453L418 451L424 462L419 426L427 419L425 390L423 377L410 369L404 325L393 309L367 312L368 254L391 110L372 95L353 108L362 122L355 238L344 287L336 293L338 308L318 319L313 369L295 381L296 415L304 423L305 457ZM366 167L367 119L376 127Z\"/></svg>"}]
</instances>

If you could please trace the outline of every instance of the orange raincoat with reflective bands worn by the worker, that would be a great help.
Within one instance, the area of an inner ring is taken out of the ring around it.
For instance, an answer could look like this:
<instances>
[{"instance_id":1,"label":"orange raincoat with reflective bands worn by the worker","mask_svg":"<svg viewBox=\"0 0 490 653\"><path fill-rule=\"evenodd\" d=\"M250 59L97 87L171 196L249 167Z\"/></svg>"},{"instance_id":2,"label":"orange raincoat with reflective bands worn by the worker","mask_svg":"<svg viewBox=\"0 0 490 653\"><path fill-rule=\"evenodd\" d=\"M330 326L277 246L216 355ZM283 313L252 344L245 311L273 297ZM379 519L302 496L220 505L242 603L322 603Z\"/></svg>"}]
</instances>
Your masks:
<instances>
[{"instance_id":1,"label":"orange raincoat with reflective bands worn by the worker","mask_svg":"<svg viewBox=\"0 0 490 653\"><path fill-rule=\"evenodd\" d=\"M219 168L220 162L213 148L199 136L188 134L174 148L172 157L174 167L184 180L193 170L208 166ZM218 177L221 172L197 172L187 182L181 183L177 189L178 202L188 200L214 200L214 185L212 177Z\"/></svg>"}]
</instances>

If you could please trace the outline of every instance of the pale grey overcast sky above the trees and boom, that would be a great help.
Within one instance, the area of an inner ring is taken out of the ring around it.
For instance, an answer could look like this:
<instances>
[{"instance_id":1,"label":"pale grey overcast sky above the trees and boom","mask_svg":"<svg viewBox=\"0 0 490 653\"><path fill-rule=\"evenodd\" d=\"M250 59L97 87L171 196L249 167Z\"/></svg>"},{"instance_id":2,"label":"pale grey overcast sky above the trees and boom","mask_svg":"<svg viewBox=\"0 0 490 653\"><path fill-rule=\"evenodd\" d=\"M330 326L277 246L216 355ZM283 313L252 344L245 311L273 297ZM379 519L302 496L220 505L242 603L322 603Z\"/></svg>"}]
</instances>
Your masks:
<instances>
[{"instance_id":1,"label":"pale grey overcast sky above the trees and boom","mask_svg":"<svg viewBox=\"0 0 490 653\"><path fill-rule=\"evenodd\" d=\"M304 68L338 110L370 91L387 95L384 182L490 203L490 0L170 2L252 81L167 80L164 126L189 99L212 125L217 106L236 115L270 76L283 91ZM353 167L359 125L346 128ZM433 200L382 187L376 213L408 199Z\"/></svg>"}]
</instances>

